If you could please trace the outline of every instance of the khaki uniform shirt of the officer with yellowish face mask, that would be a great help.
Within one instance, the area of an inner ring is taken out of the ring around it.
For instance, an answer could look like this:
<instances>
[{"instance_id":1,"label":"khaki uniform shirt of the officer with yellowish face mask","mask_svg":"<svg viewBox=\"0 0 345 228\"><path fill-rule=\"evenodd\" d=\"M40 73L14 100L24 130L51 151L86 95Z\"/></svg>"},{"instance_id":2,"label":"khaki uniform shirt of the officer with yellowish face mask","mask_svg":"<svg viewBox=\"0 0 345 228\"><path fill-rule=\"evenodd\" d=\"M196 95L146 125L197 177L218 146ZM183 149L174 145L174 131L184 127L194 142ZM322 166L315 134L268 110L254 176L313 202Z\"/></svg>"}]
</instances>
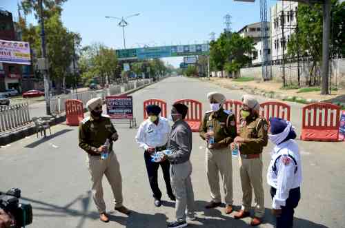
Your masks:
<instances>
[{"instance_id":1,"label":"khaki uniform shirt of the officer with yellowish face mask","mask_svg":"<svg viewBox=\"0 0 345 228\"><path fill-rule=\"evenodd\" d=\"M239 146L241 154L261 154L268 143L268 123L261 116L249 116L248 120L241 120L239 136L244 143Z\"/></svg>"}]
</instances>

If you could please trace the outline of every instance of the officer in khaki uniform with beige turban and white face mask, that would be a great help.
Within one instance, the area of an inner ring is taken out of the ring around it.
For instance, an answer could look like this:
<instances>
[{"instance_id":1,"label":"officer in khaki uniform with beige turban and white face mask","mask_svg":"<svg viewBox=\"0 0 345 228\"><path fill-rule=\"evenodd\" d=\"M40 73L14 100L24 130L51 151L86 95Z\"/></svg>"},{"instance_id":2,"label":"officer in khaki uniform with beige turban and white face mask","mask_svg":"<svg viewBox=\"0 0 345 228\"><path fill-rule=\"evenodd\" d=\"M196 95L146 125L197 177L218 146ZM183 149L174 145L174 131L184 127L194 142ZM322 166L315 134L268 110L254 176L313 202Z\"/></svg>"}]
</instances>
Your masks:
<instances>
[{"instance_id":1,"label":"officer in khaki uniform with beige turban and white face mask","mask_svg":"<svg viewBox=\"0 0 345 228\"><path fill-rule=\"evenodd\" d=\"M206 112L201 123L199 133L201 138L208 143L206 147L206 173L210 186L211 201L206 205L207 209L221 205L219 189L219 172L224 188L226 203L225 212L233 211L233 166L230 143L237 136L235 115L224 110L222 105L226 101L223 94L210 92L207 94L211 110ZM210 128L212 128L210 130ZM211 135L213 133L213 136ZM210 143L210 137L214 143Z\"/></svg>"}]
</instances>

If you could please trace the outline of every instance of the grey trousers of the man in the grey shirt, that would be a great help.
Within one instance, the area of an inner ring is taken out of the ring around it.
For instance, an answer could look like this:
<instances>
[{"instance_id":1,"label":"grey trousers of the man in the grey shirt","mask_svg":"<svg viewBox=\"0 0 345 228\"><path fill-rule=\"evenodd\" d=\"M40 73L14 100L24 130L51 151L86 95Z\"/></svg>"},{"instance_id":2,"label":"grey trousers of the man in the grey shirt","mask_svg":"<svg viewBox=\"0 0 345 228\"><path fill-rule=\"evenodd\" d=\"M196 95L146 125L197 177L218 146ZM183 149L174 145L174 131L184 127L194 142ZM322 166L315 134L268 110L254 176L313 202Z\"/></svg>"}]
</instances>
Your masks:
<instances>
[{"instance_id":1,"label":"grey trousers of the man in the grey shirt","mask_svg":"<svg viewBox=\"0 0 345 228\"><path fill-rule=\"evenodd\" d=\"M176 220L181 222L187 216L194 216L194 191L190 174L192 174L192 164L186 163L170 165L170 182L172 191L176 197Z\"/></svg>"}]
</instances>

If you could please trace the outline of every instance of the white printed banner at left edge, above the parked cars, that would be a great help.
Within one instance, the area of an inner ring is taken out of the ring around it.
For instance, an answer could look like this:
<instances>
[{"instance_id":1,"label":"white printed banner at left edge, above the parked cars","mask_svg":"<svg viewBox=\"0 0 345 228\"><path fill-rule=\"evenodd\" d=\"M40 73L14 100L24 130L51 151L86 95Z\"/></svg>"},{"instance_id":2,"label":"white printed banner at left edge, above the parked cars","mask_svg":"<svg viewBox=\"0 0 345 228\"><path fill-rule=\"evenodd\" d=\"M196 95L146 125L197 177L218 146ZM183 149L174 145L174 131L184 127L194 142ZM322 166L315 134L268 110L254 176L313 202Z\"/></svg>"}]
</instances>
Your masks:
<instances>
[{"instance_id":1,"label":"white printed banner at left edge, above the parked cars","mask_svg":"<svg viewBox=\"0 0 345 228\"><path fill-rule=\"evenodd\" d=\"M0 62L30 65L30 45L28 42L5 41L0 39Z\"/></svg>"}]
</instances>

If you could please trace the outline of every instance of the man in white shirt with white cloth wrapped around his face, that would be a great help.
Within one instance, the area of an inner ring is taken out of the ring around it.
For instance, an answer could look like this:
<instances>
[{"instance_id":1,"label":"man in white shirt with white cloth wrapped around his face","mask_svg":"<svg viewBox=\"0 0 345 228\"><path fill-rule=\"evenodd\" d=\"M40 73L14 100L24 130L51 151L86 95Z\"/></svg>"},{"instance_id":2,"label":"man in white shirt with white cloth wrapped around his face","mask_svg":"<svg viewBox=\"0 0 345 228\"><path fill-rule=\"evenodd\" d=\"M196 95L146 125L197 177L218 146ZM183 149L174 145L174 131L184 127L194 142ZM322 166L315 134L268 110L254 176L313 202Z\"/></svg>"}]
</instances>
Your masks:
<instances>
[{"instance_id":1,"label":"man in white shirt with white cloth wrapped around his face","mask_svg":"<svg viewBox=\"0 0 345 228\"><path fill-rule=\"evenodd\" d=\"M290 122L270 118L268 137L275 145L268 166L267 183L273 198L277 228L293 227L293 214L301 198L302 165L296 133Z\"/></svg>"}]
</instances>

